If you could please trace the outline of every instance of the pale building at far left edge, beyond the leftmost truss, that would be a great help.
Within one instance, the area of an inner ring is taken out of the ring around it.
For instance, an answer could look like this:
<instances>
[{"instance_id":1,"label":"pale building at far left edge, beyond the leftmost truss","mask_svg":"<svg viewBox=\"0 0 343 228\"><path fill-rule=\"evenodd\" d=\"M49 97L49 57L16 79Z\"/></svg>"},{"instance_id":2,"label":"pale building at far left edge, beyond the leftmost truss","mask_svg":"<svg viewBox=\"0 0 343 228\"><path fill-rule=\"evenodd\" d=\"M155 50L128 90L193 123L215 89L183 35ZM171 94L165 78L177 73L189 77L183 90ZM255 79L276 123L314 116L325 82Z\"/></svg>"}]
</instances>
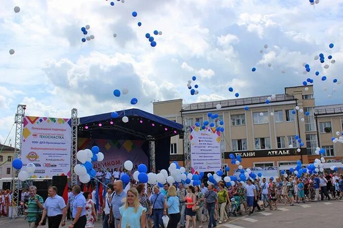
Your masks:
<instances>
[{"instance_id":1,"label":"pale building at far left edge, beyond the leftmost truss","mask_svg":"<svg viewBox=\"0 0 343 228\"><path fill-rule=\"evenodd\" d=\"M12 177L14 147L0 144L0 178Z\"/></svg>"}]
</instances>

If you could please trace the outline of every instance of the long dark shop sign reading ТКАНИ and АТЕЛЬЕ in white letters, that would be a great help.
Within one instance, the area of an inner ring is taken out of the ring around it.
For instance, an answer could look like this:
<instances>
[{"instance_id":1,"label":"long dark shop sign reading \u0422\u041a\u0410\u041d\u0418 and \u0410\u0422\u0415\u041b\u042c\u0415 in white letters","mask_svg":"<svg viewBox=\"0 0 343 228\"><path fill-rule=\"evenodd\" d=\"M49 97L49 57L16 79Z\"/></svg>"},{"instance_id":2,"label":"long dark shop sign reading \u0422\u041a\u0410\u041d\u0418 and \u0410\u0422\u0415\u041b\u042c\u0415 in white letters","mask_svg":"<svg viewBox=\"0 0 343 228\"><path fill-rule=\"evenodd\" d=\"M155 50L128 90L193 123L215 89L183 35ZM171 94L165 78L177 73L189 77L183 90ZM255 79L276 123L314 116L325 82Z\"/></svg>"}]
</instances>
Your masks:
<instances>
[{"instance_id":1,"label":"long dark shop sign reading \u0422\u041a\u0410\u041d\u0418 and \u0410\u0422\u0415\u041b\u042c\u0415 in white letters","mask_svg":"<svg viewBox=\"0 0 343 228\"><path fill-rule=\"evenodd\" d=\"M231 151L225 152L225 159L230 158L230 154L235 156L241 155L242 158L248 157L279 157L279 156L294 156L294 155L304 155L306 154L306 148L301 148L298 152L297 148L290 149L268 149L268 150L253 150L253 151Z\"/></svg>"}]
</instances>

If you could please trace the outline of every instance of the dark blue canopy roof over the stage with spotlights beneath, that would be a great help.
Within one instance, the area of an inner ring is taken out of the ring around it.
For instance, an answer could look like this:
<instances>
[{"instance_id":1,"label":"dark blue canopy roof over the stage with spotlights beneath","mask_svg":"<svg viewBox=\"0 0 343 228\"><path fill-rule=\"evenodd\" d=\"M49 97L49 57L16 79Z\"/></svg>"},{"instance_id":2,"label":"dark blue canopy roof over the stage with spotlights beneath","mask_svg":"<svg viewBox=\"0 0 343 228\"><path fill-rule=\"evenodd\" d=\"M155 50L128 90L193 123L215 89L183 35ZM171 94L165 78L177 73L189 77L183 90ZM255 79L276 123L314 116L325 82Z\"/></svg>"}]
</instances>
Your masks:
<instances>
[{"instance_id":1,"label":"dark blue canopy roof over the stage with spotlights beneath","mask_svg":"<svg viewBox=\"0 0 343 228\"><path fill-rule=\"evenodd\" d=\"M118 118L112 118L111 113L81 117L78 138L158 140L183 134L182 124L140 109L117 113ZM123 116L127 116L129 122L124 123Z\"/></svg>"}]
</instances>

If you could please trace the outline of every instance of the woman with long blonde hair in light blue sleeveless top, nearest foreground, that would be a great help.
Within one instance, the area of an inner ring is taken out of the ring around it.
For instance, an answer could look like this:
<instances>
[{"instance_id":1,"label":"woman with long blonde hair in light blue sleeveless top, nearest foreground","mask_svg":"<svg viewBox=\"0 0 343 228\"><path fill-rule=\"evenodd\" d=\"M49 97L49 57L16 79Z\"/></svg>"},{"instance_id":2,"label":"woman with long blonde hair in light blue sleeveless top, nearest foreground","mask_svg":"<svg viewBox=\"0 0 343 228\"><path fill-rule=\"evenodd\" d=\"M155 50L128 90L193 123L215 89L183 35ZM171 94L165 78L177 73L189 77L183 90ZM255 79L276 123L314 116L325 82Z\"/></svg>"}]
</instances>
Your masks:
<instances>
[{"instance_id":1,"label":"woman with long blonde hair in light blue sleeveless top, nearest foreground","mask_svg":"<svg viewBox=\"0 0 343 228\"><path fill-rule=\"evenodd\" d=\"M124 205L119 208L121 218L118 228L144 228L146 209L139 203L137 189L130 188L122 202Z\"/></svg>"}]
</instances>

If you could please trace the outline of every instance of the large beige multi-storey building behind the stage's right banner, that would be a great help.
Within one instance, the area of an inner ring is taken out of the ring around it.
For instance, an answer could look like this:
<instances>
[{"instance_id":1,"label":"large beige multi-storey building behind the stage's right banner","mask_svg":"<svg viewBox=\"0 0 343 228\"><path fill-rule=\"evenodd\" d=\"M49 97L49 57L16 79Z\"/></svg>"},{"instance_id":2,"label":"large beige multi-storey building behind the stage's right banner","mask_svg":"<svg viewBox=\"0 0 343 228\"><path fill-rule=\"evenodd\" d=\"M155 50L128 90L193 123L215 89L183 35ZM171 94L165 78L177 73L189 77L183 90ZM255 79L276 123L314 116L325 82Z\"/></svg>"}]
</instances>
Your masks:
<instances>
[{"instance_id":1,"label":"large beige multi-storey building behind the stage's right banner","mask_svg":"<svg viewBox=\"0 0 343 228\"><path fill-rule=\"evenodd\" d=\"M182 104L181 99L155 102L153 113L181 124L186 116L189 125L195 125L196 122L202 124L205 120L212 122L207 113L217 113L219 116L215 124L224 120L225 144L221 149L231 174L232 170L237 169L230 162L231 153L242 156L241 165L245 168L274 166L288 170L296 166L297 160L307 165L319 158L317 147L325 148L325 159L331 162L325 164L325 169L334 165L341 168L343 144L333 143L331 138L335 137L336 132L341 134L343 131L343 105L316 107L311 85L287 87L285 93L276 94L266 104L270 97L266 95L194 104ZM216 108L218 104L221 105L220 109ZM245 107L248 109L245 110ZM302 140L303 146L295 139L296 135ZM171 139L170 160L184 164L183 139L178 136Z\"/></svg>"}]
</instances>

